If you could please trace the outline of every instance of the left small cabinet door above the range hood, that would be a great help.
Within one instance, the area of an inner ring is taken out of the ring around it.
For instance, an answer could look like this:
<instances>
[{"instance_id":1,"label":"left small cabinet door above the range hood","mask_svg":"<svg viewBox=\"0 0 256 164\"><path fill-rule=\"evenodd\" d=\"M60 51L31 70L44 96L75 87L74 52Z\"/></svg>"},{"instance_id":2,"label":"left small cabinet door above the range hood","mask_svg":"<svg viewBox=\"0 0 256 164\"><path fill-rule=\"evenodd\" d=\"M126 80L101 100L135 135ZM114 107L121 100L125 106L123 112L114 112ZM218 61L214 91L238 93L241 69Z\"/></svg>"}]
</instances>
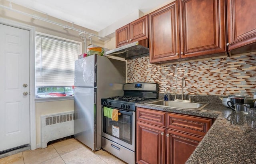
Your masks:
<instances>
[{"instance_id":1,"label":"left small cabinet door above the range hood","mask_svg":"<svg viewBox=\"0 0 256 164\"><path fill-rule=\"evenodd\" d=\"M116 48L129 43L129 24L116 30Z\"/></svg>"}]
</instances>

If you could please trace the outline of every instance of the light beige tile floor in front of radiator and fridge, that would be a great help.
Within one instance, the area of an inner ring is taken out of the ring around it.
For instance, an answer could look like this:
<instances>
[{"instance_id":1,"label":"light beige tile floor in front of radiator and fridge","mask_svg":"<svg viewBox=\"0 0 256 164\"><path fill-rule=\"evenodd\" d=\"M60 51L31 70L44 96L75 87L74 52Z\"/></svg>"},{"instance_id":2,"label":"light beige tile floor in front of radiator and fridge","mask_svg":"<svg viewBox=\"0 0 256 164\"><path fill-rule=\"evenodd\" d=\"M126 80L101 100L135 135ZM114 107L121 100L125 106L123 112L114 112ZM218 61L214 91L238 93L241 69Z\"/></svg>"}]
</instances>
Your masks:
<instances>
[{"instance_id":1,"label":"light beige tile floor in front of radiator and fridge","mask_svg":"<svg viewBox=\"0 0 256 164\"><path fill-rule=\"evenodd\" d=\"M74 138L56 142L47 148L26 150L0 159L0 164L126 164L112 154L90 148Z\"/></svg>"}]
</instances>

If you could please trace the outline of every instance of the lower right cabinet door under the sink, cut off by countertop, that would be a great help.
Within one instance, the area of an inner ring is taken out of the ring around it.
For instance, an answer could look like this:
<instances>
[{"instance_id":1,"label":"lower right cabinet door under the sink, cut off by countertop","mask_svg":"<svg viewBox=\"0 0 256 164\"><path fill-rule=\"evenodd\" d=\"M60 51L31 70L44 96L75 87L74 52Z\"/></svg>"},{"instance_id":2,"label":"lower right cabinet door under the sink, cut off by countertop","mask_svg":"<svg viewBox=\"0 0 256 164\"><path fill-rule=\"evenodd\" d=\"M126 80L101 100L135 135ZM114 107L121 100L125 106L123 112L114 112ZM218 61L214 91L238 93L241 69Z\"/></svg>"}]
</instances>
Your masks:
<instances>
[{"instance_id":1,"label":"lower right cabinet door under the sink, cut off by countertop","mask_svg":"<svg viewBox=\"0 0 256 164\"><path fill-rule=\"evenodd\" d=\"M166 163L184 164L202 138L167 129Z\"/></svg>"}]
</instances>

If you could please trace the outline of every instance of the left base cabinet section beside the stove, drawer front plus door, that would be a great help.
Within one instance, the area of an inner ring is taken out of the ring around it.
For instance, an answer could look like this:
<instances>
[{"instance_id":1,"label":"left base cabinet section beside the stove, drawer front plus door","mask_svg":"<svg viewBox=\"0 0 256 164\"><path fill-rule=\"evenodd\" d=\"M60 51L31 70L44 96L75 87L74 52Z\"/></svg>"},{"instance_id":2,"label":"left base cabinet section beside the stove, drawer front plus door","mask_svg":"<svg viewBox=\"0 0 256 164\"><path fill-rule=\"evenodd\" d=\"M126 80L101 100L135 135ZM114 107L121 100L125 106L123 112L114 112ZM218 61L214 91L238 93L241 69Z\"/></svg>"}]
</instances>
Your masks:
<instances>
[{"instance_id":1,"label":"left base cabinet section beside the stove, drawer front plus door","mask_svg":"<svg viewBox=\"0 0 256 164\"><path fill-rule=\"evenodd\" d=\"M164 164L166 112L136 110L136 163Z\"/></svg>"}]
</instances>

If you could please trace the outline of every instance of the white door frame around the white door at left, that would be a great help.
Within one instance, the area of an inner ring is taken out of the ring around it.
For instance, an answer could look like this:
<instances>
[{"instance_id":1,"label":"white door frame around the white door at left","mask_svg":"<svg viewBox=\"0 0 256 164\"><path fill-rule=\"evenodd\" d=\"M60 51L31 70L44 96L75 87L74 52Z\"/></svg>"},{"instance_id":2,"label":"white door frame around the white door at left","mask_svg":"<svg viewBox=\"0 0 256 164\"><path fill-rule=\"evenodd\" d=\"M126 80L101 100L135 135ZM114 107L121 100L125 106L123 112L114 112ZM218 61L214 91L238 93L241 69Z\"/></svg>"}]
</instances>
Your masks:
<instances>
[{"instance_id":1,"label":"white door frame around the white door at left","mask_svg":"<svg viewBox=\"0 0 256 164\"><path fill-rule=\"evenodd\" d=\"M36 104L35 104L35 37L36 30L34 26L22 24L20 22L0 18L0 24L20 28L30 31L30 68L29 68L29 82L30 82L30 148L36 149Z\"/></svg>"}]
</instances>

